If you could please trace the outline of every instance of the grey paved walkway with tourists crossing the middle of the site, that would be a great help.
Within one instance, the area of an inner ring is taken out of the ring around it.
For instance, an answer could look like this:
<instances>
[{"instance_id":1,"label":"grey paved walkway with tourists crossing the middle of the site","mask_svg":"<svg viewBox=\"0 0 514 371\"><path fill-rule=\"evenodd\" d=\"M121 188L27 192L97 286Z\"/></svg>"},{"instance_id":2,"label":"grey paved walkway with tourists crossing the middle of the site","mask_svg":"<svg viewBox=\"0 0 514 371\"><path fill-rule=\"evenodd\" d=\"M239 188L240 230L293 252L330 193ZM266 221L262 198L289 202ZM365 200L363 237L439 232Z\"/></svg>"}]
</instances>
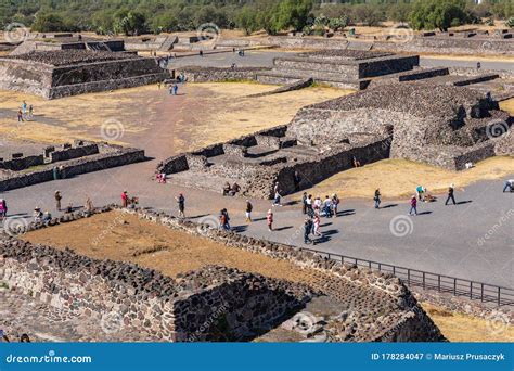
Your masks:
<instances>
[{"instance_id":1,"label":"grey paved walkway with tourists crossing the middle of the site","mask_svg":"<svg viewBox=\"0 0 514 371\"><path fill-rule=\"evenodd\" d=\"M174 197L184 192L187 215L215 225L217 212L227 207L237 232L305 246L303 215L298 204L275 207L275 231L266 227L270 202L255 200L256 220L244 222L243 199L223 197L220 192L185 190L151 179L156 161L81 175L76 178L36 184L7 192L10 214L29 218L40 206L55 215L53 192L81 206L86 195L95 205L119 203L124 189L140 197L141 206L176 214ZM458 191L457 206L438 202L421 204L420 215L407 217L408 202L384 202L376 210L372 201L344 200L338 218L322 219L325 235L314 248L432 271L491 284L514 286L514 193L502 193L501 181L481 181ZM294 200L285 197L285 202ZM94 236L91 236L92 239Z\"/></svg>"}]
</instances>

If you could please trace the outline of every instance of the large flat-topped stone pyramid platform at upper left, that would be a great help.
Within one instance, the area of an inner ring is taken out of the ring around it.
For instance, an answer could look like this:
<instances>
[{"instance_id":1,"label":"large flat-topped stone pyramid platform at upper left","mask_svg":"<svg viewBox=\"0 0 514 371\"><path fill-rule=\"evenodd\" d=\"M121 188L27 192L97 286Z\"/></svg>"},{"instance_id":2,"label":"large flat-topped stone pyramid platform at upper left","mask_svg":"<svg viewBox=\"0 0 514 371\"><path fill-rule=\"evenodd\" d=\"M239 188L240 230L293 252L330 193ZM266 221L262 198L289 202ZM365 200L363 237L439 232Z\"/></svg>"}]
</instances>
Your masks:
<instances>
[{"instance_id":1,"label":"large flat-topped stone pyramid platform at upper left","mask_svg":"<svg viewBox=\"0 0 514 371\"><path fill-rule=\"evenodd\" d=\"M63 49L0 57L0 89L56 99L163 81L154 59L112 51Z\"/></svg>"}]
</instances>

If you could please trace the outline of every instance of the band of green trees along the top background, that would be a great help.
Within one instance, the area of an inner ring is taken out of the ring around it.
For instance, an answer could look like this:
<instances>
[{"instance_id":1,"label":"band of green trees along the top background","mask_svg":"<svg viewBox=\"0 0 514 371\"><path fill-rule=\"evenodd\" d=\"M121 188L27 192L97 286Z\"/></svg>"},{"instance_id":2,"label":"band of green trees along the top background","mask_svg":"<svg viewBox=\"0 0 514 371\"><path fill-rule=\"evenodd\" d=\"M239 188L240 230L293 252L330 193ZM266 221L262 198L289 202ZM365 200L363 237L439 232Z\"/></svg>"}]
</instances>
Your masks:
<instances>
[{"instance_id":1,"label":"band of green trees along the top background","mask_svg":"<svg viewBox=\"0 0 514 371\"><path fill-rule=\"evenodd\" d=\"M21 23L36 31L141 35L195 30L214 23L247 34L304 30L322 34L348 25L409 23L416 29L491 23L512 24L513 0L0 0L0 26ZM510 20L511 21L506 21Z\"/></svg>"}]
</instances>

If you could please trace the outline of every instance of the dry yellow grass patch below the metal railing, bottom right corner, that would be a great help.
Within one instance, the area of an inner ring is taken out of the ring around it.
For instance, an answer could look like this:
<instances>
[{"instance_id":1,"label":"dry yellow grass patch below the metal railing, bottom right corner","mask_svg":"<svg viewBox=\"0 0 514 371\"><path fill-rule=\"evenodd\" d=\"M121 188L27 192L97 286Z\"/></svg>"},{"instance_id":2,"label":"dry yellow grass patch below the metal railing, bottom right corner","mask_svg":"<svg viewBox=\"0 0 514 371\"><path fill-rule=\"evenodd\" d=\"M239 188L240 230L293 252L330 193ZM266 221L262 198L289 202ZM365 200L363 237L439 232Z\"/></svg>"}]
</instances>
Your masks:
<instances>
[{"instance_id":1,"label":"dry yellow grass patch below the metal railing, bottom right corner","mask_svg":"<svg viewBox=\"0 0 514 371\"><path fill-rule=\"evenodd\" d=\"M514 327L483 318L448 311L432 304L422 303L423 309L450 342L514 342Z\"/></svg>"}]
</instances>

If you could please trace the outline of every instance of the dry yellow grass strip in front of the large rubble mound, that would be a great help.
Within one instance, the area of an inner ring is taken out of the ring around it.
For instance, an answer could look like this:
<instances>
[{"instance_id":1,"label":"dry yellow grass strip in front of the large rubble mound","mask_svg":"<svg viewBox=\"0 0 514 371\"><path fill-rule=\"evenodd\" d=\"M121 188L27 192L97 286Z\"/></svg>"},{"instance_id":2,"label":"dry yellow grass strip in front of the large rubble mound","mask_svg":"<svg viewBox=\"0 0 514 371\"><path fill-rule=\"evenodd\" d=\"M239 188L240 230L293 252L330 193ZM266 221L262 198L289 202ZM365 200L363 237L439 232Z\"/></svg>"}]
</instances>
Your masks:
<instances>
[{"instance_id":1,"label":"dry yellow grass strip in front of the large rubble mound","mask_svg":"<svg viewBox=\"0 0 514 371\"><path fill-rule=\"evenodd\" d=\"M438 193L446 191L451 183L463 188L477 180L500 179L510 174L514 174L514 158L506 156L488 158L464 171L445 170L406 159L385 159L342 171L307 192L371 200L375 189L380 188L384 197L397 199L411 195L420 184L428 192Z\"/></svg>"}]
</instances>

